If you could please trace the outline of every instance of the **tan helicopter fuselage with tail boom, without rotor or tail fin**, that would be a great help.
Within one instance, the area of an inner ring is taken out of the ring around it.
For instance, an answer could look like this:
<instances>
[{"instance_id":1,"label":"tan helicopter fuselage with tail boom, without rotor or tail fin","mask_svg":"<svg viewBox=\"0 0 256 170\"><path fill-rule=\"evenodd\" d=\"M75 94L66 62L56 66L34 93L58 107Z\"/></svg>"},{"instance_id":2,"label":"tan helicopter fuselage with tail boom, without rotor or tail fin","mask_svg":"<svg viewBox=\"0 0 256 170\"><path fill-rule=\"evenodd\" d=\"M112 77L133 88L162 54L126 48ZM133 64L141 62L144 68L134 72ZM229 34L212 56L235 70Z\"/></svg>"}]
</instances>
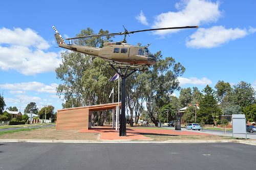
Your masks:
<instances>
[{"instance_id":1,"label":"tan helicopter fuselage with tail boom, without rotor or tail fin","mask_svg":"<svg viewBox=\"0 0 256 170\"><path fill-rule=\"evenodd\" d=\"M156 63L156 57L148 51L146 46L135 46L121 42L104 43L102 48L61 43L58 45L75 52L120 64L154 65Z\"/></svg>"}]
</instances>

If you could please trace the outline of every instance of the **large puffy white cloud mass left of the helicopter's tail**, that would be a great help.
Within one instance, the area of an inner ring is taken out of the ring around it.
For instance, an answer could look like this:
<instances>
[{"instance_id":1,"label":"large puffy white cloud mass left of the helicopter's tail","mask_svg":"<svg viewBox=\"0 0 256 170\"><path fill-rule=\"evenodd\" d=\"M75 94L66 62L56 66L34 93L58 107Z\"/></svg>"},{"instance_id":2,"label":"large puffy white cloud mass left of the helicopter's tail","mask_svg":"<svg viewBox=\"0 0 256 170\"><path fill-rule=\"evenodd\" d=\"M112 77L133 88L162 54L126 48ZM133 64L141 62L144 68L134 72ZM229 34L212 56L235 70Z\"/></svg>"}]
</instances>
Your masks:
<instances>
[{"instance_id":1,"label":"large puffy white cloud mass left of the helicopter's tail","mask_svg":"<svg viewBox=\"0 0 256 170\"><path fill-rule=\"evenodd\" d=\"M0 69L14 69L24 75L54 71L59 54L45 52L50 45L31 29L0 29Z\"/></svg>"}]
</instances>

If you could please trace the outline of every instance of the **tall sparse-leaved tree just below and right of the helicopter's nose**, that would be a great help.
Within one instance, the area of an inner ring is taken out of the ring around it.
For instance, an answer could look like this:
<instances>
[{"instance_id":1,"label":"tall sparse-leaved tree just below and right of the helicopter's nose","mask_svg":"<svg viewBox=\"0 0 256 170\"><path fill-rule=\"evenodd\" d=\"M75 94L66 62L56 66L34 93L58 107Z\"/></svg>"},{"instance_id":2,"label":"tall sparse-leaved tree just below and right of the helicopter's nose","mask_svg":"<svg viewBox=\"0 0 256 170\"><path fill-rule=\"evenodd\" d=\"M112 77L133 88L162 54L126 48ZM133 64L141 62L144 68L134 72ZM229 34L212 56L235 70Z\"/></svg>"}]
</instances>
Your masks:
<instances>
[{"instance_id":1,"label":"tall sparse-leaved tree just below and right of the helicopter's nose","mask_svg":"<svg viewBox=\"0 0 256 170\"><path fill-rule=\"evenodd\" d=\"M181 76L185 68L172 57L162 59L161 52L155 54L157 63L141 74L144 87L144 98L148 116L157 126L159 119L157 115L158 108L161 108L174 90L179 90L178 77Z\"/></svg>"}]
</instances>

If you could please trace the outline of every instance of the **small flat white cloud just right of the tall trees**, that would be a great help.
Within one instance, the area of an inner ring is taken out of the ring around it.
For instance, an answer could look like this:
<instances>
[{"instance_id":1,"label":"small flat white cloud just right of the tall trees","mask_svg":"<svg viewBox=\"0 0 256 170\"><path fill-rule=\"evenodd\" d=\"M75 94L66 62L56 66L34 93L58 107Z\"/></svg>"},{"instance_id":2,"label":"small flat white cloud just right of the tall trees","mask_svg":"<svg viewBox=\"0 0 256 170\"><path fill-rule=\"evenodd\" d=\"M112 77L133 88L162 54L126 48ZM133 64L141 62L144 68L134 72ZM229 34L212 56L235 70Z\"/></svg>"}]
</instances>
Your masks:
<instances>
[{"instance_id":1,"label":"small flat white cloud just right of the tall trees","mask_svg":"<svg viewBox=\"0 0 256 170\"><path fill-rule=\"evenodd\" d=\"M178 80L180 82L180 86L183 86L185 84L194 84L194 85L211 84L211 81L209 79L207 79L206 77L203 77L201 79L198 79L196 77L190 77L190 78L179 77Z\"/></svg>"}]
</instances>

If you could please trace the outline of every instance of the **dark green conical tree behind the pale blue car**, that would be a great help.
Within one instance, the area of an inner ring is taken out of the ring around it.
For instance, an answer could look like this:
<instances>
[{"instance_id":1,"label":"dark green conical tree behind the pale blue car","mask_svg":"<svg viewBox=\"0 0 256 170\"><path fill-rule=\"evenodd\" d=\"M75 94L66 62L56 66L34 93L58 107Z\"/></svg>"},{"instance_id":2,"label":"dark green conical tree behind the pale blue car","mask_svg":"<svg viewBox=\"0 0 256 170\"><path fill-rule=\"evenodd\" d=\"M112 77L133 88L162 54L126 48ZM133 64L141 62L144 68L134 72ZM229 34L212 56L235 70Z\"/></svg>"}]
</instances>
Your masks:
<instances>
[{"instance_id":1,"label":"dark green conical tree behind the pale blue car","mask_svg":"<svg viewBox=\"0 0 256 170\"><path fill-rule=\"evenodd\" d=\"M197 112L198 122L203 120L205 124L214 123L217 126L217 121L222 112L218 106L216 93L209 85L203 89L203 93L200 109Z\"/></svg>"}]
</instances>

